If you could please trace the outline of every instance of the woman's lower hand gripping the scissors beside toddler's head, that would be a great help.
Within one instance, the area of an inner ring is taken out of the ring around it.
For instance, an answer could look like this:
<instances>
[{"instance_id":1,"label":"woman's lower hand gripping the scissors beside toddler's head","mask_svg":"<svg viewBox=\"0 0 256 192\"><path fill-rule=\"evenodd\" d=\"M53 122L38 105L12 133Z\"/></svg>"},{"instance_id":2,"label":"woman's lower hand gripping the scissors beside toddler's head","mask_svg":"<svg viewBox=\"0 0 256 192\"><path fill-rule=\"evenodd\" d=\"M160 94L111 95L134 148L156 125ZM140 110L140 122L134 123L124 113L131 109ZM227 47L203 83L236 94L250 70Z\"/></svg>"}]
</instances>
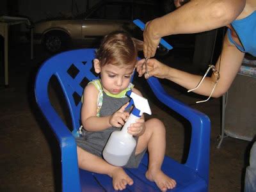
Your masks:
<instances>
[{"instance_id":1,"label":"woman's lower hand gripping the scissors beside toddler's head","mask_svg":"<svg viewBox=\"0 0 256 192\"><path fill-rule=\"evenodd\" d=\"M161 79L167 79L168 76L170 76L170 67L167 65L164 65L163 63L157 61L156 59L148 59L147 61L147 70L148 70L148 75L145 73L146 68L145 68L145 59L138 61L136 65L137 72L139 74L139 77L143 76L146 79L151 76L155 76L157 78Z\"/></svg>"}]
</instances>

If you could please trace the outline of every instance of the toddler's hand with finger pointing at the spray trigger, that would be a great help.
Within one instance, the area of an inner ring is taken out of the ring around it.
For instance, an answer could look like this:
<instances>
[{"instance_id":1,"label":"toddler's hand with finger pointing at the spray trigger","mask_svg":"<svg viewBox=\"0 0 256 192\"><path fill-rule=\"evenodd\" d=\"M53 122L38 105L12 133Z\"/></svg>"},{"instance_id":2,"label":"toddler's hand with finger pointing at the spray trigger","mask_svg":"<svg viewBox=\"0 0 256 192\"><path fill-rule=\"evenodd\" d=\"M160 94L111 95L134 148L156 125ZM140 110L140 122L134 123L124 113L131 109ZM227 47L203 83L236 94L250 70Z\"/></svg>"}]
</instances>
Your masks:
<instances>
[{"instance_id":1,"label":"toddler's hand with finger pointing at the spray trigger","mask_svg":"<svg viewBox=\"0 0 256 192\"><path fill-rule=\"evenodd\" d=\"M124 104L122 108L113 113L109 118L109 124L113 127L122 127L129 117L129 113L125 112L125 108L128 106L129 102Z\"/></svg>"}]
</instances>

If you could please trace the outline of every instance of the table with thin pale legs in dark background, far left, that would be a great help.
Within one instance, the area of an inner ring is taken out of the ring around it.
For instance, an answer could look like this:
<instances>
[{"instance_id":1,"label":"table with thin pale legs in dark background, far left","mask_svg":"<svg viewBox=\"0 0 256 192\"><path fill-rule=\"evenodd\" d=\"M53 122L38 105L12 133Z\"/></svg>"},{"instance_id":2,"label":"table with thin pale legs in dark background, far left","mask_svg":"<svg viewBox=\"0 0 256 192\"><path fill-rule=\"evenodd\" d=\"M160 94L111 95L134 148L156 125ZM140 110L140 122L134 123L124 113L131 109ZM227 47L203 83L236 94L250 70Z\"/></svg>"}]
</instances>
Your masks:
<instances>
[{"instance_id":1,"label":"table with thin pale legs in dark background, far left","mask_svg":"<svg viewBox=\"0 0 256 192\"><path fill-rule=\"evenodd\" d=\"M27 24L30 26L31 32L31 60L33 60L33 28L29 19L24 17L11 17L11 16L0 16L0 35L4 38L4 85L9 84L9 74L8 74L8 30L9 26L16 24Z\"/></svg>"}]
</instances>

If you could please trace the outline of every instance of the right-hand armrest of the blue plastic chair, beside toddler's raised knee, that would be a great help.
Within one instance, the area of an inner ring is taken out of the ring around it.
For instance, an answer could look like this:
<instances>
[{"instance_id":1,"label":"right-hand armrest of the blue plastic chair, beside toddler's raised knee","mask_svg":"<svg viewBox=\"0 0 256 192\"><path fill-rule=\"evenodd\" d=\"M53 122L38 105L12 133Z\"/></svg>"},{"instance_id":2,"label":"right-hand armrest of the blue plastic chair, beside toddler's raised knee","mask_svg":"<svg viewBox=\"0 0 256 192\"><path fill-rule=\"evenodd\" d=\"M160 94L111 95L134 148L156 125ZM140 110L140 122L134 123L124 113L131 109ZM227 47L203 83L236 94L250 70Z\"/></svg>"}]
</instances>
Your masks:
<instances>
[{"instance_id":1,"label":"right-hand armrest of the blue plastic chair, beside toddler's raised knee","mask_svg":"<svg viewBox=\"0 0 256 192\"><path fill-rule=\"evenodd\" d=\"M208 182L211 130L209 117L168 95L156 77L150 77L147 81L157 99L191 123L191 143L185 165L196 170Z\"/></svg>"}]
</instances>

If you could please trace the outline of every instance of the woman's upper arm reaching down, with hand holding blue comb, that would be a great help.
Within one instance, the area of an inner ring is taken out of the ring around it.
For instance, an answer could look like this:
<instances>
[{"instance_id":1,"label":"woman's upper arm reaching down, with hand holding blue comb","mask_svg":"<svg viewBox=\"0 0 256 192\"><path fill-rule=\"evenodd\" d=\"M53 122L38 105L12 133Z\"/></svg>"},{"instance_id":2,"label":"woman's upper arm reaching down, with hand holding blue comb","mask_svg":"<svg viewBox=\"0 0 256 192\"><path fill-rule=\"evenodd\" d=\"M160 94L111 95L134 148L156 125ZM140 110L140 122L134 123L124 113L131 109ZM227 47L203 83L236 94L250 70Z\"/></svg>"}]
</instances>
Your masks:
<instances>
[{"instance_id":1,"label":"woman's upper arm reaching down, with hand holding blue comb","mask_svg":"<svg viewBox=\"0 0 256 192\"><path fill-rule=\"evenodd\" d=\"M227 26L243 12L246 0L192 0L177 10L147 22L144 56L151 58L163 36L199 33Z\"/></svg>"}]
</instances>

